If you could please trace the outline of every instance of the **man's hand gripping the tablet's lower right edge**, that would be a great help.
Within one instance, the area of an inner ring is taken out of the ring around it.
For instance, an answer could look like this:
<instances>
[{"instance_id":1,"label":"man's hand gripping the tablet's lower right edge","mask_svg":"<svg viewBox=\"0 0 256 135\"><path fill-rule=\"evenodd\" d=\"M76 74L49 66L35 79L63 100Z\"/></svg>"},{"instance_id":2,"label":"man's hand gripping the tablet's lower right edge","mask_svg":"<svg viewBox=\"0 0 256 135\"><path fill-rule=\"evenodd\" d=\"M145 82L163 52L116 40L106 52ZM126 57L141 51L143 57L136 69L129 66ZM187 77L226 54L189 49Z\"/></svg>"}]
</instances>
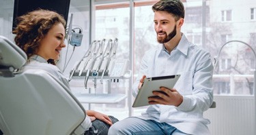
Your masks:
<instances>
[{"instance_id":1,"label":"man's hand gripping the tablet's lower right edge","mask_svg":"<svg viewBox=\"0 0 256 135\"><path fill-rule=\"evenodd\" d=\"M159 91L153 92L154 96L148 98L149 104L165 104L178 107L183 102L183 96L175 89L161 87Z\"/></svg>"}]
</instances>

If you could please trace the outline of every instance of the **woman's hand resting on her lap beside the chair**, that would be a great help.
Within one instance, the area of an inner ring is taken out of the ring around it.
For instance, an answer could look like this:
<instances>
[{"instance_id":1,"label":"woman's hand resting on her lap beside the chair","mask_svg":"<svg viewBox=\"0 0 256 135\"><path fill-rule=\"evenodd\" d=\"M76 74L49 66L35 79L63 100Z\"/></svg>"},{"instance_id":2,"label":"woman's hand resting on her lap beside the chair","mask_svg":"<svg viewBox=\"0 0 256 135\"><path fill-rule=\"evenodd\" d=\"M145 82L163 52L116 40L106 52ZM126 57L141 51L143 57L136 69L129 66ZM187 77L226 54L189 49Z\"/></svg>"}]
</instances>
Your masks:
<instances>
[{"instance_id":1,"label":"woman's hand resting on her lap beside the chair","mask_svg":"<svg viewBox=\"0 0 256 135\"><path fill-rule=\"evenodd\" d=\"M102 113L99 113L97 111L92 111L92 110L87 110L86 114L90 117L91 121L94 121L95 119L99 119L100 121L104 121L105 123L109 124L110 126L113 125L113 123L108 115L104 115Z\"/></svg>"}]
</instances>

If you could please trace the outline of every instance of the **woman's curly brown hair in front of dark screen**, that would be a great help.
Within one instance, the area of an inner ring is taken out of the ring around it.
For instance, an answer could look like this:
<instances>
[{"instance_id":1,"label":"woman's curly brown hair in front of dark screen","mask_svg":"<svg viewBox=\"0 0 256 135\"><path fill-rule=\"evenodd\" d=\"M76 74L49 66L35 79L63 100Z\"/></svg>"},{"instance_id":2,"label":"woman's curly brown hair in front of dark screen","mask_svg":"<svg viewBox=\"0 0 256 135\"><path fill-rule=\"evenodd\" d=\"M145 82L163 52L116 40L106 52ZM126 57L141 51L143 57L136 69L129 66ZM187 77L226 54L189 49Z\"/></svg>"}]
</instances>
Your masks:
<instances>
[{"instance_id":1,"label":"woman's curly brown hair in front of dark screen","mask_svg":"<svg viewBox=\"0 0 256 135\"><path fill-rule=\"evenodd\" d=\"M66 20L57 12L46 9L37 9L28 12L17 19L17 26L13 33L16 34L14 41L26 54L29 59L38 52L38 47L44 36L55 24L63 24L66 27ZM48 60L55 64L54 60Z\"/></svg>"}]
</instances>

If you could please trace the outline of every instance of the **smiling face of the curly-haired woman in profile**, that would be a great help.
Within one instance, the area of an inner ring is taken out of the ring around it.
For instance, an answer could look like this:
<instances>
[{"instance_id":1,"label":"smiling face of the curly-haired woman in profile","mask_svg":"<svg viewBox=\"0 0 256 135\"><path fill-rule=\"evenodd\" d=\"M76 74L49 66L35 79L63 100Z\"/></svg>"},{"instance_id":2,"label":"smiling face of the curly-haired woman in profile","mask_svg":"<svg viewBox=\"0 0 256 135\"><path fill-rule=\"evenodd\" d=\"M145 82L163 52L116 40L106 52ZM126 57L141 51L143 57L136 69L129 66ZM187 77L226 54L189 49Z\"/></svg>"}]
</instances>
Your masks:
<instances>
[{"instance_id":1,"label":"smiling face of the curly-haired woman in profile","mask_svg":"<svg viewBox=\"0 0 256 135\"><path fill-rule=\"evenodd\" d=\"M45 60L58 60L61 48L66 47L64 44L64 38L65 28L63 24L55 24L48 33L44 35L37 54Z\"/></svg>"}]
</instances>

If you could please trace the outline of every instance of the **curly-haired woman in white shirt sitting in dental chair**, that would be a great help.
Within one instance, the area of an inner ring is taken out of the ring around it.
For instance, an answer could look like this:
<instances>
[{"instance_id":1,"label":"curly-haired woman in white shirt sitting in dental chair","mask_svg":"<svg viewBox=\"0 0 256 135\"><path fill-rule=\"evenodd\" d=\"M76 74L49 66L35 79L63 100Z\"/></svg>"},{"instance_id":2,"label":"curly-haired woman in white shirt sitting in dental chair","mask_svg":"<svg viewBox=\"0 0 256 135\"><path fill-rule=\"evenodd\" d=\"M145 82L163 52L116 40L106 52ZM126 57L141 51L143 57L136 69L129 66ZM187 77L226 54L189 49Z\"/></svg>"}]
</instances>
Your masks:
<instances>
[{"instance_id":1,"label":"curly-haired woman in white shirt sitting in dental chair","mask_svg":"<svg viewBox=\"0 0 256 135\"><path fill-rule=\"evenodd\" d=\"M26 54L27 64L21 69L42 69L57 77L69 88L68 79L57 68L56 61L60 51L66 47L65 26L63 16L53 11L38 9L29 12L18 19L13 33L14 41ZM87 110L85 121L81 124L84 134L107 134L109 127L118 121L96 111Z\"/></svg>"}]
</instances>

